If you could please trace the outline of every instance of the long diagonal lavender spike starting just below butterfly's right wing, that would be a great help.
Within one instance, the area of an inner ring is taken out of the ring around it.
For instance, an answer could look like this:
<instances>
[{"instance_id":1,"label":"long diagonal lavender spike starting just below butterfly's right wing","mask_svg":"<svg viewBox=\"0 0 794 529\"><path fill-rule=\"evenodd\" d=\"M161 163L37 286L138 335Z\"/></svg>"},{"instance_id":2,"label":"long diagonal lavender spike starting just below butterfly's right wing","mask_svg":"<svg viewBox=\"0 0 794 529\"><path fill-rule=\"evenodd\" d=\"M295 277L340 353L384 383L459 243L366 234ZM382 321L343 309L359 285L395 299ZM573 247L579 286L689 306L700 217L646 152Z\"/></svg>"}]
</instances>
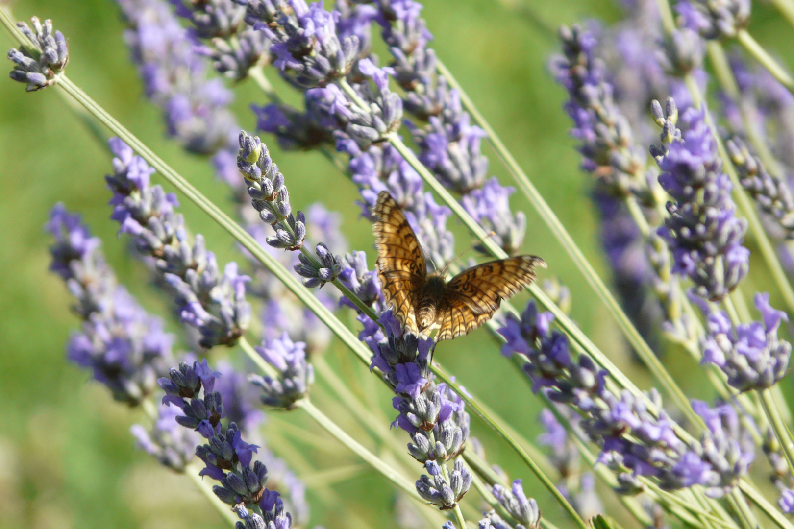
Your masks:
<instances>
[{"instance_id":1,"label":"long diagonal lavender spike starting just below butterfly's right wing","mask_svg":"<svg viewBox=\"0 0 794 529\"><path fill-rule=\"evenodd\" d=\"M507 340L503 354L525 358L524 371L534 391L542 390L552 401L583 414L580 427L601 447L599 462L618 473L619 493L642 490L638 477L644 476L653 477L665 490L703 485L707 494L721 497L746 474L751 454L742 450L736 431L710 420L712 412L705 404L696 404L696 412L706 421L707 431L700 443L684 443L676 436L673 420L661 410L655 390L646 397L660 409L657 416L630 391L612 393L606 385L607 371L599 370L587 355L574 362L568 339L551 330L552 320L550 312L538 312L534 301L520 320L508 316L499 329Z\"/></svg>"}]
</instances>

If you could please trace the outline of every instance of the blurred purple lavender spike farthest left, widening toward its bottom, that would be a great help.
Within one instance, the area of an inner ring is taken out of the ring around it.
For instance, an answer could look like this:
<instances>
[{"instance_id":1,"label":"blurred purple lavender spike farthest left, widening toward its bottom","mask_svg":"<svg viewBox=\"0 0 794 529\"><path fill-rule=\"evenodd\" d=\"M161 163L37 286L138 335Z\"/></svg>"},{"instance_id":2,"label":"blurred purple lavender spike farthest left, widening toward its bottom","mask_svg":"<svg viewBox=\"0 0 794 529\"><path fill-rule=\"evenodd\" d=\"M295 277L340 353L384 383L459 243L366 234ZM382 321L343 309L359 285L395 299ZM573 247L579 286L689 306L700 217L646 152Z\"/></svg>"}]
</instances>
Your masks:
<instances>
[{"instance_id":1,"label":"blurred purple lavender spike farthest left, widening toward its bottom","mask_svg":"<svg viewBox=\"0 0 794 529\"><path fill-rule=\"evenodd\" d=\"M58 204L46 229L55 238L50 270L66 283L83 320L83 328L69 339L69 359L90 369L117 401L140 404L156 389L158 374L172 358L173 336L118 284L100 240L78 215Z\"/></svg>"}]
</instances>

